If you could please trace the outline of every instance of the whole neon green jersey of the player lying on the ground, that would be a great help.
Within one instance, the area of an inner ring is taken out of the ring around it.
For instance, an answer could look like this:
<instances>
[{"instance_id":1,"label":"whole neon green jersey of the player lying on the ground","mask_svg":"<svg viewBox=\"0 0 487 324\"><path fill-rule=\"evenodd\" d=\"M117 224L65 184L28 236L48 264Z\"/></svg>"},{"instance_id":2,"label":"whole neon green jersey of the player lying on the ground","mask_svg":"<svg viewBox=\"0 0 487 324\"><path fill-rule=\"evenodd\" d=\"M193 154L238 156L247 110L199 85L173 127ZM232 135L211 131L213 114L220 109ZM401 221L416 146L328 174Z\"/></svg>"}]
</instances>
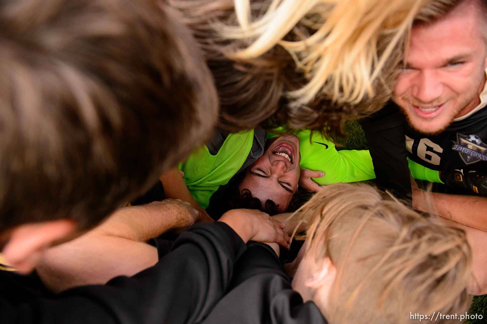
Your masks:
<instances>
[{"instance_id":1,"label":"whole neon green jersey of the player lying on the ground","mask_svg":"<svg viewBox=\"0 0 487 324\"><path fill-rule=\"evenodd\" d=\"M337 182L355 182L375 179L374 164L368 150L340 150L335 143L318 132L300 130L295 132L300 140L300 167L324 171L325 176L313 178L320 185ZM267 134L267 138L279 135ZM184 181L191 196L207 208L211 196L240 170L250 152L254 131L229 134L216 155L211 155L206 146L193 152L179 164L185 173ZM440 182L438 171L430 170L409 161L415 179Z\"/></svg>"}]
</instances>

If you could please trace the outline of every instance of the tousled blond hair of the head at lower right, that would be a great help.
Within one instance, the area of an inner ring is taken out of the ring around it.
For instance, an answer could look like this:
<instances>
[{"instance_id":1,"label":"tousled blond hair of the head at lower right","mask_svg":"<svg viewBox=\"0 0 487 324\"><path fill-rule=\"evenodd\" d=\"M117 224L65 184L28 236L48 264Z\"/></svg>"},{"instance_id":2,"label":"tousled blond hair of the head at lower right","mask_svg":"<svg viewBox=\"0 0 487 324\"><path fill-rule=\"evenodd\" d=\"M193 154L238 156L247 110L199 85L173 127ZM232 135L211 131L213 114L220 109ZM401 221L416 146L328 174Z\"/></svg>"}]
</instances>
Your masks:
<instances>
[{"instance_id":1,"label":"tousled blond hair of the head at lower right","mask_svg":"<svg viewBox=\"0 0 487 324\"><path fill-rule=\"evenodd\" d=\"M471 252L462 230L367 185L329 185L300 217L309 224L306 253L337 267L324 308L330 323L414 323L410 312L468 309Z\"/></svg>"}]
</instances>

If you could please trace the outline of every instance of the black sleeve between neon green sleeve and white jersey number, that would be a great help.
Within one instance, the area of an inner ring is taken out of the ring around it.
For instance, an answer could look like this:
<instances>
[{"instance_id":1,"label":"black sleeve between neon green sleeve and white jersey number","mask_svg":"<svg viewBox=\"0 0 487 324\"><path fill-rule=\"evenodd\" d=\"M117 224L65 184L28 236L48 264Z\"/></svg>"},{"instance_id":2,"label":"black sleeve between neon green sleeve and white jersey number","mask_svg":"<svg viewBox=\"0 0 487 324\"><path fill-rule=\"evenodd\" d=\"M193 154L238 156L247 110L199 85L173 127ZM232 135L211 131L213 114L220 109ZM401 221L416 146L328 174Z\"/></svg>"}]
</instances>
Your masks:
<instances>
[{"instance_id":1,"label":"black sleeve between neon green sleeve and white jersey number","mask_svg":"<svg viewBox=\"0 0 487 324\"><path fill-rule=\"evenodd\" d=\"M393 102L359 121L369 144L377 185L399 198L411 197L405 116Z\"/></svg>"}]
</instances>

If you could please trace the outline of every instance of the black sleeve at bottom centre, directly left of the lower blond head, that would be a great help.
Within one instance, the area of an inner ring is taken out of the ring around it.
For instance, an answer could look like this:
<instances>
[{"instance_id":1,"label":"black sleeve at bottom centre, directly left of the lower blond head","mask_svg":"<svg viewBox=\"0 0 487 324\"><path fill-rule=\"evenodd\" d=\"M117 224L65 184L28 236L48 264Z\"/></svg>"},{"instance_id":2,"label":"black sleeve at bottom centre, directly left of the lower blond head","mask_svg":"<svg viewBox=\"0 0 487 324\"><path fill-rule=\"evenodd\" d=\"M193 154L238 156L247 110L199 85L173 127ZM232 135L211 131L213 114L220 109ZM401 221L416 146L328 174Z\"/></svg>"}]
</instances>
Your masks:
<instances>
[{"instance_id":1,"label":"black sleeve at bottom centre, directly left of the lower blond head","mask_svg":"<svg viewBox=\"0 0 487 324\"><path fill-rule=\"evenodd\" d=\"M235 265L230 291L204 324L327 324L313 302L303 304L274 250L250 242Z\"/></svg>"}]
</instances>

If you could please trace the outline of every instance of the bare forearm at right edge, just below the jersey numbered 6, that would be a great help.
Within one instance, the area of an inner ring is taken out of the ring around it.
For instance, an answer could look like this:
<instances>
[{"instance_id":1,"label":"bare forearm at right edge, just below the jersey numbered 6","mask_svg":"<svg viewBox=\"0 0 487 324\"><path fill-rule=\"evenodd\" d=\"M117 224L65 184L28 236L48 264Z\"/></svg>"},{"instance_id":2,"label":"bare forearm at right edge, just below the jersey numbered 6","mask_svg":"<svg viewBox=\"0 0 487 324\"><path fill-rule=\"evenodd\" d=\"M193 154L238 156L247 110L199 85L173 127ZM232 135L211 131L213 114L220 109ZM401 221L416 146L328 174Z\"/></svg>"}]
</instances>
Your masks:
<instances>
[{"instance_id":1,"label":"bare forearm at right edge, just below the jersey numbered 6","mask_svg":"<svg viewBox=\"0 0 487 324\"><path fill-rule=\"evenodd\" d=\"M454 222L487 231L487 198L429 193L413 190L412 206L422 212L435 212Z\"/></svg>"}]
</instances>

